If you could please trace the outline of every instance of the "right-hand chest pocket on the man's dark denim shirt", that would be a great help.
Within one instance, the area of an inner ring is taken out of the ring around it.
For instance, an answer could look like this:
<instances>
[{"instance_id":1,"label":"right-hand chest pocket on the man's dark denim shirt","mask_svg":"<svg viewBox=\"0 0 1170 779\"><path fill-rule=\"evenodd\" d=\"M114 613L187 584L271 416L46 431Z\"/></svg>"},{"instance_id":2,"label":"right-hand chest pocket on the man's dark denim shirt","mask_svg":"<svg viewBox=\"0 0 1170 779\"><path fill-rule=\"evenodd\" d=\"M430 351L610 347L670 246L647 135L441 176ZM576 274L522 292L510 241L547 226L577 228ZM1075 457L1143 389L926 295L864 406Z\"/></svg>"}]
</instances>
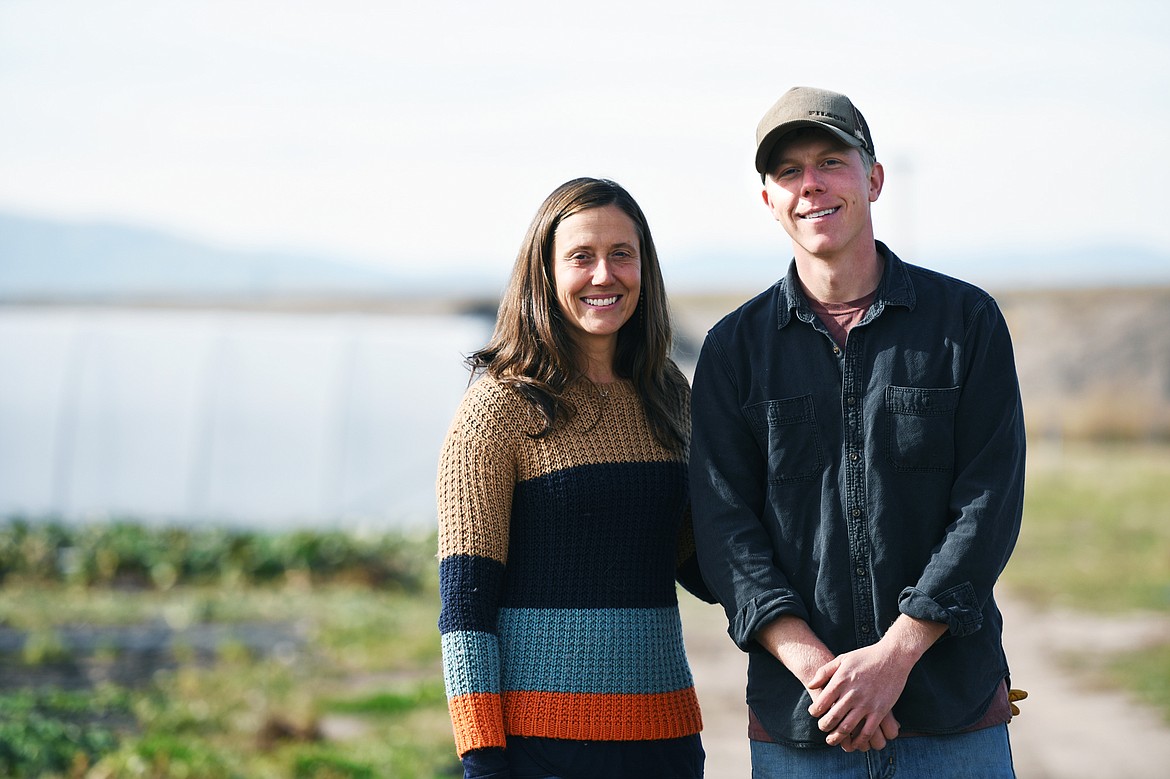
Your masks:
<instances>
[{"instance_id":1,"label":"right-hand chest pocket on the man's dark denim shirt","mask_svg":"<svg viewBox=\"0 0 1170 779\"><path fill-rule=\"evenodd\" d=\"M889 461L897 470L948 471L955 467L955 409L961 387L886 387Z\"/></svg>"}]
</instances>

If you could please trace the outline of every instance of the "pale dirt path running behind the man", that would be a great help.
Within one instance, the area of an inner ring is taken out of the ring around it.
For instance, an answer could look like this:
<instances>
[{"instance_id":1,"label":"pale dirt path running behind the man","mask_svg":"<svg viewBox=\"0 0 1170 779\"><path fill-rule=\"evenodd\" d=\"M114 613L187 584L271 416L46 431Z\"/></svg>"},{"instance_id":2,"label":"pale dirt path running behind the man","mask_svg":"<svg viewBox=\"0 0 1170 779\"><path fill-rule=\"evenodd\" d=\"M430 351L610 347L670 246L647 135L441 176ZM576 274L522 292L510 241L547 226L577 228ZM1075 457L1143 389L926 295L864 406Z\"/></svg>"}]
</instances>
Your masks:
<instances>
[{"instance_id":1,"label":"pale dirt path running behind the man","mask_svg":"<svg viewBox=\"0 0 1170 779\"><path fill-rule=\"evenodd\" d=\"M997 597L1012 682L1030 692L1010 725L1020 779L1170 777L1170 726L1159 715L1121 692L1093 688L1058 662L1065 653L1170 640L1170 620L1038 612L1003 593ZM687 650L703 706L707 775L750 777L745 656L728 639L722 609L693 598L683 601Z\"/></svg>"}]
</instances>

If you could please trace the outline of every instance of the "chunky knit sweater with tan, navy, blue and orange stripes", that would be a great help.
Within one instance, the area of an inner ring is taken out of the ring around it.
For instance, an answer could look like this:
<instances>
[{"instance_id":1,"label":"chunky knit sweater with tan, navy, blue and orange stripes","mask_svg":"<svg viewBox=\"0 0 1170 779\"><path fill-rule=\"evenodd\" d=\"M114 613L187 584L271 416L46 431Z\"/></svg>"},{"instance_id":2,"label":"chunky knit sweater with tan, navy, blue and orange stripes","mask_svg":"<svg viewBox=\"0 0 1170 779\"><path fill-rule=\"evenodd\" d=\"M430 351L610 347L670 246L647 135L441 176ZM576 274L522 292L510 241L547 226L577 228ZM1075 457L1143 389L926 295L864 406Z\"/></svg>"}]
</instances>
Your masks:
<instances>
[{"instance_id":1,"label":"chunky knit sweater with tan, navy, blue and orange stripes","mask_svg":"<svg viewBox=\"0 0 1170 779\"><path fill-rule=\"evenodd\" d=\"M686 462L632 384L583 380L566 398L573 420L534 439L531 405L482 378L443 444L439 630L461 756L507 736L702 728L674 588L694 564Z\"/></svg>"}]
</instances>

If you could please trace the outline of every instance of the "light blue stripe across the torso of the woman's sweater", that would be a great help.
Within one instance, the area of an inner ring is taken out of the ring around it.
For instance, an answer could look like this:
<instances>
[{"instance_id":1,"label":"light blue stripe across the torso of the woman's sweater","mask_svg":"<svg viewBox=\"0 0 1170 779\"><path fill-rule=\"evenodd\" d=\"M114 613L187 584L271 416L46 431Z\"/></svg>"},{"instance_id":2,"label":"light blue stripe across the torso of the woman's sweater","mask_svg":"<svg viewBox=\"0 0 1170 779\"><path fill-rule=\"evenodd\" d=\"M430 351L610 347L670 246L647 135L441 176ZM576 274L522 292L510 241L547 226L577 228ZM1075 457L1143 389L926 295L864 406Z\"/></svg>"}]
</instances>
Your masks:
<instances>
[{"instance_id":1,"label":"light blue stripe across the torso of the woman's sweater","mask_svg":"<svg viewBox=\"0 0 1170 779\"><path fill-rule=\"evenodd\" d=\"M677 608L502 608L507 690L670 692L694 684Z\"/></svg>"}]
</instances>

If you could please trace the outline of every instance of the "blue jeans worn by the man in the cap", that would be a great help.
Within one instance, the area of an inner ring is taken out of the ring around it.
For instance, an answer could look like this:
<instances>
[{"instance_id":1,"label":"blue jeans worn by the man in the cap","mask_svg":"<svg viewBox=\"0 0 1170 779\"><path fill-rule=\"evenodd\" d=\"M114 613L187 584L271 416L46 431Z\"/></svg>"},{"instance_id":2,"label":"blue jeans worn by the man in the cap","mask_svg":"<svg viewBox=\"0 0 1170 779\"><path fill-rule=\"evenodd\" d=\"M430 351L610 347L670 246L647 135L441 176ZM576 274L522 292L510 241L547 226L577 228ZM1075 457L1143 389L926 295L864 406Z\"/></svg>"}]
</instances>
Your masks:
<instances>
[{"instance_id":1,"label":"blue jeans worn by the man in the cap","mask_svg":"<svg viewBox=\"0 0 1170 779\"><path fill-rule=\"evenodd\" d=\"M883 750L751 743L752 779L1014 779L1007 725L955 736L895 738Z\"/></svg>"}]
</instances>

